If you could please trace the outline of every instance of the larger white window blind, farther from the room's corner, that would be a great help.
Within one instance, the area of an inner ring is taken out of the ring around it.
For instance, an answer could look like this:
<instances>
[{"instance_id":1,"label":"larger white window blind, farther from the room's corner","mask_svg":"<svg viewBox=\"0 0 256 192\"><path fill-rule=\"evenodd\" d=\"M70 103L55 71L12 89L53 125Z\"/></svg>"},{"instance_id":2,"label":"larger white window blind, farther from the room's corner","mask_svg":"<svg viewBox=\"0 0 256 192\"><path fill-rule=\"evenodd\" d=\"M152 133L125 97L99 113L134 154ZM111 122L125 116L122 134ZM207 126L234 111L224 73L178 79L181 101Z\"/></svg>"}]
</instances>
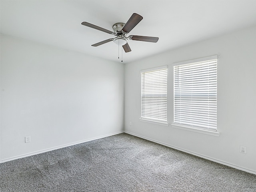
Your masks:
<instances>
[{"instance_id":1,"label":"larger white window blind, farther from the room's corner","mask_svg":"<svg viewBox=\"0 0 256 192\"><path fill-rule=\"evenodd\" d=\"M217 130L217 59L174 66L174 124Z\"/></svg>"}]
</instances>

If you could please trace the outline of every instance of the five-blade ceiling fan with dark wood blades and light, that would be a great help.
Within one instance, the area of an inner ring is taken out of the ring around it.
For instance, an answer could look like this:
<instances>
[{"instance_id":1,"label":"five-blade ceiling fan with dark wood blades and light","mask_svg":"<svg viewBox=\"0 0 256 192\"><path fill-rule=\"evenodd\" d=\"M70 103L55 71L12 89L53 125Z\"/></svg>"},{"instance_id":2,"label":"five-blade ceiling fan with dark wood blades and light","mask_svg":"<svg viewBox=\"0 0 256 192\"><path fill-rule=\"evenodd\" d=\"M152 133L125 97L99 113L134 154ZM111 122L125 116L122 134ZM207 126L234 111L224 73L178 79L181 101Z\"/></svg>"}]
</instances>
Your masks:
<instances>
[{"instance_id":1,"label":"five-blade ceiling fan with dark wood blades and light","mask_svg":"<svg viewBox=\"0 0 256 192\"><path fill-rule=\"evenodd\" d=\"M88 26L90 28L94 28L103 32L106 32L108 34L115 35L115 38L110 38L107 40L104 40L102 42L98 42L96 44L93 44L92 46L96 47L102 44L105 44L107 42L113 41L117 45L121 45L124 48L125 52L130 52L130 46L128 45L128 39L129 40L135 40L135 41L146 41L146 42L154 42L156 43L158 41L158 37L148 37L148 36L138 36L138 35L130 35L126 36L141 20L143 19L142 16L139 14L132 14L130 19L125 23L115 23L112 28L114 32L101 28L99 26L90 24L88 22L82 22L82 25Z\"/></svg>"}]
</instances>

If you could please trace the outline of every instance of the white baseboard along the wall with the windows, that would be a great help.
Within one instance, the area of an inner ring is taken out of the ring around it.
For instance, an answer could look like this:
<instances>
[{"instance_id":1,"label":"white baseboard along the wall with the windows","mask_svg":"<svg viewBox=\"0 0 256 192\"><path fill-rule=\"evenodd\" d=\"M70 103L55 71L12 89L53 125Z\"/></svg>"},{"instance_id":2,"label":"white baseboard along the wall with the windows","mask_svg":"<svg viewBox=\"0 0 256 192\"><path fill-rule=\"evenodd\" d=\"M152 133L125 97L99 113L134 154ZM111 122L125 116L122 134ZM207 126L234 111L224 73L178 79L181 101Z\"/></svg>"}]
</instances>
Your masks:
<instances>
[{"instance_id":1,"label":"white baseboard along the wall with the windows","mask_svg":"<svg viewBox=\"0 0 256 192\"><path fill-rule=\"evenodd\" d=\"M152 142L155 142L155 143L158 143L158 144L161 144L161 145L164 145L164 146L167 146L167 147L179 150L179 151L183 151L183 152L188 153L188 154L192 154L194 156L198 156L198 157L201 157L201 158L204 158L204 159L207 159L207 160L219 163L219 164L223 164L223 165L226 165L226 166L238 169L238 170L242 170L242 171L245 171L245 172L248 172L248 173L256 174L256 171L254 171L254 170L249 170L249 169L246 169L246 168L243 168L243 167L240 167L240 166L236 166L234 164L230 164L230 163L222 161L222 160L214 159L214 158L211 158L211 157L208 157L208 156L204 156L202 154L198 154L198 153L195 153L195 152L192 152L192 151L188 151L188 150L184 150L184 149L181 149L181 148L178 148L178 147L175 147L175 146L171 146L169 144L166 144L166 143L163 143L163 142L159 142L157 140L153 140L153 139L150 139L150 138L146 138L144 136L140 136L140 135L134 134L132 132L128 132L128 131L124 131L124 132L127 133L127 134L130 134L130 135L136 136L136 137L140 137L142 139L146 139L146 140L149 140L149 141L152 141Z\"/></svg>"}]
</instances>

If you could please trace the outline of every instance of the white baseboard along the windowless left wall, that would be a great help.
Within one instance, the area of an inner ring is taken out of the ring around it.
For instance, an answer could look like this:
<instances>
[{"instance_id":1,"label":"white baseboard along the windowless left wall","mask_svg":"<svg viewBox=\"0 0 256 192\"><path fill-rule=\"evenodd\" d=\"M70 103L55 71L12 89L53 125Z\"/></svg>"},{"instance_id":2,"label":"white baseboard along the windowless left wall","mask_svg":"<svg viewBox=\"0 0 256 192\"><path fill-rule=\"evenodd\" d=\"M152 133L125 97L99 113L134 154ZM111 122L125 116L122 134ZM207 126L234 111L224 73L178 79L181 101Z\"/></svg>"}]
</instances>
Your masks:
<instances>
[{"instance_id":1,"label":"white baseboard along the windowless left wall","mask_svg":"<svg viewBox=\"0 0 256 192\"><path fill-rule=\"evenodd\" d=\"M48 151L53 151L53 150L56 150L56 149L69 147L69 146L72 146L72 145L77 145L77 144L80 144L80 143L84 143L84 142L88 142L88 141L92 141L92 140L96 140L96 139L100 139L100 138L104 138L104 137L109 137L109 136L120 134L120 133L124 133L124 131L115 132L115 133L107 134L107 135L104 135L104 136L94 137L94 138L90 138L90 139L86 139L86 140L82 140L82 141L78 141L78 142L74 142L74 143L70 143L70 144L65 144L65 145L61 145L61 146L57 146L57 147L53 147L53 148L48 148L48 149L45 149L45 150L40 150L40 151L36 151L36 152L24 154L24 155L11 157L11 158L6 158L6 159L3 159L3 160L0 160L0 163L12 161L12 160L16 160L16 159L20 159L20 158L24 158L24 157L28 157L28 156L32 156L32 155L36 155L36 154L40 154L40 153L44 153L44 152L48 152Z\"/></svg>"}]
</instances>

